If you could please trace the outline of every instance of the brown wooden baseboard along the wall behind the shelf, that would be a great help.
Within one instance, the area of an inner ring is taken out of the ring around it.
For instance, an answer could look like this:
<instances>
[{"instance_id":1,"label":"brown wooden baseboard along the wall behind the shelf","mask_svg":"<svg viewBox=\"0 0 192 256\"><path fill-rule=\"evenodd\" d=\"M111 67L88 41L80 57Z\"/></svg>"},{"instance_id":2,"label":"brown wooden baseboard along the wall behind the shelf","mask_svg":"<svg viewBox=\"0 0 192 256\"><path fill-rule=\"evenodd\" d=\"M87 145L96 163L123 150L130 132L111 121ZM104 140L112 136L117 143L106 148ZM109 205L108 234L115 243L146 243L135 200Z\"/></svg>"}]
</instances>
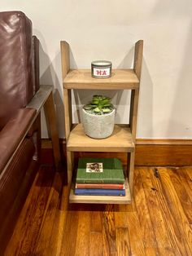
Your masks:
<instances>
[{"instance_id":1,"label":"brown wooden baseboard along the wall behind the shelf","mask_svg":"<svg viewBox=\"0 0 192 256\"><path fill-rule=\"evenodd\" d=\"M65 156L65 140L60 139ZM51 142L42 139L41 163L53 162ZM118 157L124 165L126 153L114 152L76 152L75 157ZM192 166L192 139L137 139L136 166Z\"/></svg>"}]
</instances>

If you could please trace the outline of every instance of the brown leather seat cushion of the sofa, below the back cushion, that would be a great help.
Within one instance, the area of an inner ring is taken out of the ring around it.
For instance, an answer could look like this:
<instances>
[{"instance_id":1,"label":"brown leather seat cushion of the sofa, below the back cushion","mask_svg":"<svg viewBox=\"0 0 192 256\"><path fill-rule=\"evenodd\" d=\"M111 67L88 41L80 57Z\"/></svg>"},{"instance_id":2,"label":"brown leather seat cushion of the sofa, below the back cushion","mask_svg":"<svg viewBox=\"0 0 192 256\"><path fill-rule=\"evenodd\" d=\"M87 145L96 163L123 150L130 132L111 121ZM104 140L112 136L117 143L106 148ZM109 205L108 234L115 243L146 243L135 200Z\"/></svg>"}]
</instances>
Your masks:
<instances>
[{"instance_id":1,"label":"brown leather seat cushion of the sofa, below the back cushion","mask_svg":"<svg viewBox=\"0 0 192 256\"><path fill-rule=\"evenodd\" d=\"M35 115L33 108L20 108L0 131L0 174L24 139Z\"/></svg>"}]
</instances>

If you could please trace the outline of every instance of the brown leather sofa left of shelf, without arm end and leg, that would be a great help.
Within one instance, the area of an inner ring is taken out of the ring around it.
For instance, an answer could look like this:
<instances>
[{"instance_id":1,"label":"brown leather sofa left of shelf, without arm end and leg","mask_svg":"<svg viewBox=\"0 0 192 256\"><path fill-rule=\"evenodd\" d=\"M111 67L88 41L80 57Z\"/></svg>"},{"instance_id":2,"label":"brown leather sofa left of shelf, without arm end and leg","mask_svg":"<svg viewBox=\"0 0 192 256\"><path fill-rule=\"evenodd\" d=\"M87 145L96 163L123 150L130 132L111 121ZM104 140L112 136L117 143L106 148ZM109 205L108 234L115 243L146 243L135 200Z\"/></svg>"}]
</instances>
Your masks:
<instances>
[{"instance_id":1,"label":"brown leather sofa left of shelf, without arm end and leg","mask_svg":"<svg viewBox=\"0 0 192 256\"><path fill-rule=\"evenodd\" d=\"M0 255L39 166L40 115L28 108L39 89L32 33L23 12L0 12Z\"/></svg>"}]
</instances>

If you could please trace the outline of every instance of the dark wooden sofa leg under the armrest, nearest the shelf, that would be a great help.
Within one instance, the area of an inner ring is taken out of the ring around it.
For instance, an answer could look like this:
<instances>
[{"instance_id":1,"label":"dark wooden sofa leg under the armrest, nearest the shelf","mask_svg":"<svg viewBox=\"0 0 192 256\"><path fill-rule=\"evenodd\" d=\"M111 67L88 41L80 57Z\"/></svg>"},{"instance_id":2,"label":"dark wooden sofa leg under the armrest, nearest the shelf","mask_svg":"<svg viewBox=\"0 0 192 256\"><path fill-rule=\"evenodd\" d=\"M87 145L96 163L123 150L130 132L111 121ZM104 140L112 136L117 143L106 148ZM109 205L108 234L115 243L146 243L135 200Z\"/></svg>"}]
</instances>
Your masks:
<instances>
[{"instance_id":1,"label":"dark wooden sofa leg under the armrest, nearest the shelf","mask_svg":"<svg viewBox=\"0 0 192 256\"><path fill-rule=\"evenodd\" d=\"M57 124L56 124L55 105L54 105L52 91L49 97L46 99L44 109L45 109L46 117L48 119L48 125L50 128L50 137L51 137L53 153L54 153L55 168L56 170L59 170L59 167L61 164L61 155L60 155L60 149L59 149L59 135L58 135Z\"/></svg>"}]
</instances>

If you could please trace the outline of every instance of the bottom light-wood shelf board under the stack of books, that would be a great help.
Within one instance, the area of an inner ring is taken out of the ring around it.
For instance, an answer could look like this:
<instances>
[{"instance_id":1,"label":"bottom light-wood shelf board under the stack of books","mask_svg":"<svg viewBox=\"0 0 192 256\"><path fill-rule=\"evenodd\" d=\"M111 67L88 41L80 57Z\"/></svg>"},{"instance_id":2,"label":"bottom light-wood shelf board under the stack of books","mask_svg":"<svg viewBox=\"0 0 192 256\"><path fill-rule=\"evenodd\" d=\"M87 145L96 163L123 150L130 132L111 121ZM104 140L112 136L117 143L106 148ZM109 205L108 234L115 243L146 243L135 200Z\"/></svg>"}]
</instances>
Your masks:
<instances>
[{"instance_id":1,"label":"bottom light-wood shelf board under the stack of books","mask_svg":"<svg viewBox=\"0 0 192 256\"><path fill-rule=\"evenodd\" d=\"M129 205L131 203L131 194L129 189L129 183L125 181L125 196L77 196L74 194L75 184L72 183L70 191L69 202L70 203L82 203L82 204L124 204Z\"/></svg>"}]
</instances>

